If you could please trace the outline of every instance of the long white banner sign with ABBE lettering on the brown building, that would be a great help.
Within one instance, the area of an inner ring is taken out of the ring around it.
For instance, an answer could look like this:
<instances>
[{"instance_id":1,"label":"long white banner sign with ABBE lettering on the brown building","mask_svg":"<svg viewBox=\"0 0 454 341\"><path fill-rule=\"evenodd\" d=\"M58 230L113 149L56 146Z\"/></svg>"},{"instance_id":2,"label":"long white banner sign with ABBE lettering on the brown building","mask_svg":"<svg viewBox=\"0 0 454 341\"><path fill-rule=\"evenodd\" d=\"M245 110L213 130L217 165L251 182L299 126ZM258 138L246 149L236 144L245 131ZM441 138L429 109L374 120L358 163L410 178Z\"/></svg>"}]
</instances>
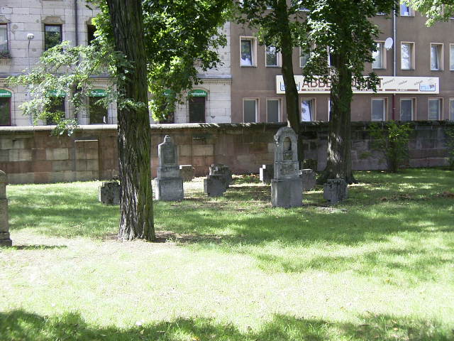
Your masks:
<instances>
[{"instance_id":1,"label":"long white banner sign with ABBE lettering on the brown building","mask_svg":"<svg viewBox=\"0 0 454 341\"><path fill-rule=\"evenodd\" d=\"M299 94L329 94L331 82L323 82L318 77L312 82L305 82L304 76L294 76ZM277 94L285 93L284 78L276 76ZM377 94L438 94L440 92L438 77L380 77ZM369 89L358 89L353 85L354 94L373 94Z\"/></svg>"}]
</instances>

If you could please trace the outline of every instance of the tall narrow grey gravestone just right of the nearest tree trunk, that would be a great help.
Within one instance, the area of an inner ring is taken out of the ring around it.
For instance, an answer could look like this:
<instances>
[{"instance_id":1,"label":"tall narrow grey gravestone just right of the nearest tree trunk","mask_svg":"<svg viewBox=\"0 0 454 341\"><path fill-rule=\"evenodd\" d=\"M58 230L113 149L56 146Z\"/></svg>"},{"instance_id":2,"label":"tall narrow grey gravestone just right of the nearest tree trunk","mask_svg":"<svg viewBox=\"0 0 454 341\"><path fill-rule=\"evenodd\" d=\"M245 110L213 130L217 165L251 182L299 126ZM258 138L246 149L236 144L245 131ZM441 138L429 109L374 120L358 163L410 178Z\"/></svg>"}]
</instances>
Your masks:
<instances>
[{"instance_id":1,"label":"tall narrow grey gravestone just right of the nearest tree trunk","mask_svg":"<svg viewBox=\"0 0 454 341\"><path fill-rule=\"evenodd\" d=\"M179 175L177 146L170 136L166 135L164 142L157 146L156 199L163 201L183 200L183 179Z\"/></svg>"}]
</instances>

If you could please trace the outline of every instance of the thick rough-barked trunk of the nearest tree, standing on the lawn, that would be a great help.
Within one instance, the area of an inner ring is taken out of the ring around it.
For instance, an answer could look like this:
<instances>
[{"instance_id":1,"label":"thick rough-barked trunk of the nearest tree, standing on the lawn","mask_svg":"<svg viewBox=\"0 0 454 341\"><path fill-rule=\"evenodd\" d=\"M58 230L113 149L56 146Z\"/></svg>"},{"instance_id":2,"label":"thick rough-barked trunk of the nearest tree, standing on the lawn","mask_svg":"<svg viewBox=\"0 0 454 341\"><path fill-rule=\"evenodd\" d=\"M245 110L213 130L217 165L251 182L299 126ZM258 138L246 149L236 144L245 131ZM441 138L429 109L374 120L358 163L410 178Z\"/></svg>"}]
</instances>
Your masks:
<instances>
[{"instance_id":1,"label":"thick rough-barked trunk of the nearest tree, standing on the lawn","mask_svg":"<svg viewBox=\"0 0 454 341\"><path fill-rule=\"evenodd\" d=\"M140 0L107 0L116 50L131 67L118 66L118 92L137 105L118 105L118 160L121 182L118 238L155 240L151 188L148 85ZM125 72L127 71L127 72Z\"/></svg>"}]
</instances>

